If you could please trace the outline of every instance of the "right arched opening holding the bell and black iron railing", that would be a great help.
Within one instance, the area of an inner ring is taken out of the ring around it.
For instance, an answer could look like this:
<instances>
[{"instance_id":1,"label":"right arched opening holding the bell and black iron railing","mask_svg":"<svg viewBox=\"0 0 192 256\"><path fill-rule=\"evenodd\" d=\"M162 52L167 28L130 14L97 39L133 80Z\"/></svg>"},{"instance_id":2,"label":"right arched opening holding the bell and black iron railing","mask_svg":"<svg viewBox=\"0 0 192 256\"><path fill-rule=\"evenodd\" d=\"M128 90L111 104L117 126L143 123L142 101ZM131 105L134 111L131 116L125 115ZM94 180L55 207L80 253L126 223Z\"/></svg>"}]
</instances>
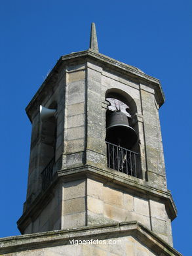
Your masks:
<instances>
[{"instance_id":1,"label":"right arched opening holding the bell and black iron railing","mask_svg":"<svg viewBox=\"0 0 192 256\"><path fill-rule=\"evenodd\" d=\"M109 102L106 111L107 167L140 177L138 154L138 124L132 121L136 115L136 103L119 89L106 92Z\"/></svg>"}]
</instances>

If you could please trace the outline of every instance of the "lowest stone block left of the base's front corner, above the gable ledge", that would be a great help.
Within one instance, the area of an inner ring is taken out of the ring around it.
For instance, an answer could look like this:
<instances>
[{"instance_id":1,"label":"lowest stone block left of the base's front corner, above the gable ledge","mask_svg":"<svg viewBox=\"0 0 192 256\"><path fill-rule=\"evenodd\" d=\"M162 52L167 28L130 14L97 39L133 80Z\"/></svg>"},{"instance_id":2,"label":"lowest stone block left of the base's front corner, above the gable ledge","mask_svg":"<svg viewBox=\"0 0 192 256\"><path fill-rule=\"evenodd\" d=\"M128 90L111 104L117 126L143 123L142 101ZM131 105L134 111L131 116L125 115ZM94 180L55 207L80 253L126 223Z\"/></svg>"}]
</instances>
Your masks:
<instances>
[{"instance_id":1,"label":"lowest stone block left of the base's front corner, above the gable ledge","mask_svg":"<svg viewBox=\"0 0 192 256\"><path fill-rule=\"evenodd\" d=\"M62 229L85 226L85 213L74 213L62 216Z\"/></svg>"}]
</instances>

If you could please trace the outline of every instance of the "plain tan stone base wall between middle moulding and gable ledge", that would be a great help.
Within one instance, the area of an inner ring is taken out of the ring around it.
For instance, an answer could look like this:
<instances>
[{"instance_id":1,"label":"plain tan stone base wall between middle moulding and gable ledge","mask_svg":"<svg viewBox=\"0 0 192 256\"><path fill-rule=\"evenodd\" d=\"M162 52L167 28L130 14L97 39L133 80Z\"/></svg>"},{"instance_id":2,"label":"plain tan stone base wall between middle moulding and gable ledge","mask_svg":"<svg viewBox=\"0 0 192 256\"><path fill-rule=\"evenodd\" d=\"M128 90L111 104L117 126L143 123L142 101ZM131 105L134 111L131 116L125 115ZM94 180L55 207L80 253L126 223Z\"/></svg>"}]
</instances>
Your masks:
<instances>
[{"instance_id":1,"label":"plain tan stone base wall between middle moulding and gable ledge","mask_svg":"<svg viewBox=\"0 0 192 256\"><path fill-rule=\"evenodd\" d=\"M93 179L61 183L25 234L125 221L142 223L172 245L171 223L164 203Z\"/></svg>"}]
</instances>

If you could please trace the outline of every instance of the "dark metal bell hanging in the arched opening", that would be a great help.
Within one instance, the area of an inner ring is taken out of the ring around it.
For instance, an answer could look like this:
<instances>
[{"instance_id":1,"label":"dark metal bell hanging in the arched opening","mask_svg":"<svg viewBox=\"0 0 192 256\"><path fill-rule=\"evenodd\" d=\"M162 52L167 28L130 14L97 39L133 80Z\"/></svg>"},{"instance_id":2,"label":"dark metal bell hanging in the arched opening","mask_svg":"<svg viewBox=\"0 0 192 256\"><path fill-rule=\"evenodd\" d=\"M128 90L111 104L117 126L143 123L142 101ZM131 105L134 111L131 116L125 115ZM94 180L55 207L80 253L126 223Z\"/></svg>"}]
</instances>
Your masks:
<instances>
[{"instance_id":1,"label":"dark metal bell hanging in the arched opening","mask_svg":"<svg viewBox=\"0 0 192 256\"><path fill-rule=\"evenodd\" d=\"M123 112L113 112L107 116L107 142L131 149L137 140L138 135L130 127L128 117Z\"/></svg>"}]
</instances>

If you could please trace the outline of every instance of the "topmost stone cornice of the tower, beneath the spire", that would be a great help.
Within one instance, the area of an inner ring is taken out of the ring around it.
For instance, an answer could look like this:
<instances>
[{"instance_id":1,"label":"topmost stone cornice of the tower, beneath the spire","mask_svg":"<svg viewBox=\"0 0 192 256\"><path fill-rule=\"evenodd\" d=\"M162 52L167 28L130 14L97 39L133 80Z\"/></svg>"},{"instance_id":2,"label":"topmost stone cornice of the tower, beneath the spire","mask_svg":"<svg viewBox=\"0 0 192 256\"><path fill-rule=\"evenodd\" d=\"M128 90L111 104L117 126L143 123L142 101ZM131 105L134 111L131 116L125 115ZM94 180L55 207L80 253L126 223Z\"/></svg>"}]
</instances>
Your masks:
<instances>
[{"instance_id":1,"label":"topmost stone cornice of the tower, beneath the spire","mask_svg":"<svg viewBox=\"0 0 192 256\"><path fill-rule=\"evenodd\" d=\"M123 62L119 62L113 58L110 58L101 53L95 53L92 50L81 51L77 53L71 53L64 56L61 56L52 71L48 74L47 78L38 89L37 93L33 96L32 100L29 102L28 106L26 107L26 112L28 114L29 119L31 120L31 113L33 112L33 108L37 108L39 104L37 102L37 98L41 98L43 92L45 93L48 87L54 87L56 85L56 80L58 79L58 74L64 70L65 65L73 65L74 63L85 63L88 61L94 61L97 64L100 63L101 65L108 66L109 69L115 69L120 74L130 76L132 79L136 79L139 82L143 81L147 83L148 86L153 87L155 89L155 95L157 95L157 102L159 106L163 105L164 103L164 93L161 87L161 83L159 79L155 77L151 77L150 75L145 74L138 68L134 66L130 66ZM40 102L41 103L41 102Z\"/></svg>"}]
</instances>

